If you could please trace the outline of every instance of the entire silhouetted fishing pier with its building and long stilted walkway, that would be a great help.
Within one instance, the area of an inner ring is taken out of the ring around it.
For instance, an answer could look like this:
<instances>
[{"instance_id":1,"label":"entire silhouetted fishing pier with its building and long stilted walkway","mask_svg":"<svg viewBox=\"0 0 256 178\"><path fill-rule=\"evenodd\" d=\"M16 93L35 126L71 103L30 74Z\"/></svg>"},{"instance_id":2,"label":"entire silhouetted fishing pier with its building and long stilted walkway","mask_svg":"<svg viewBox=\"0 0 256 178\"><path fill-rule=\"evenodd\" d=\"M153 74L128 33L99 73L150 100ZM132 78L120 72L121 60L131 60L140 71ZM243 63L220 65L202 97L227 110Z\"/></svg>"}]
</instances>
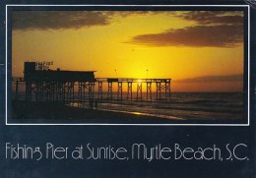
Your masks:
<instances>
[{"instance_id":1,"label":"entire silhouetted fishing pier with its building and long stilted walkway","mask_svg":"<svg viewBox=\"0 0 256 178\"><path fill-rule=\"evenodd\" d=\"M18 99L20 83L26 86L27 101L58 101L71 103L95 99L103 100L103 84L107 85L106 100L143 100L143 86L146 86L146 100L153 100L152 88L156 86L156 99L170 99L170 79L131 79L131 78L95 78L95 71L61 71L36 68L35 62L25 62L24 79L13 78L15 99ZM113 85L117 87L113 98ZM124 86L127 87L124 97ZM136 97L133 97L133 86L136 86ZM33 95L33 97L32 97Z\"/></svg>"}]
</instances>

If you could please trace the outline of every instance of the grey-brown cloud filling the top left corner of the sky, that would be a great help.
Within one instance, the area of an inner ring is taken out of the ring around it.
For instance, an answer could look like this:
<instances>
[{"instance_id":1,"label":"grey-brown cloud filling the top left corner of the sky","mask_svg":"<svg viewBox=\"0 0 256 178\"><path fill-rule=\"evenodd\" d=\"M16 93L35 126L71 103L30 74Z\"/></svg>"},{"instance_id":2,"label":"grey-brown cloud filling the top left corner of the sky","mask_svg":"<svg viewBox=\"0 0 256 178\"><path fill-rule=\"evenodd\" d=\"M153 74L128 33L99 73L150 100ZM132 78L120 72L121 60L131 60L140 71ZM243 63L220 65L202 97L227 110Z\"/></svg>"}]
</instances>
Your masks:
<instances>
[{"instance_id":1,"label":"grey-brown cloud filling the top left corner of the sky","mask_svg":"<svg viewBox=\"0 0 256 178\"><path fill-rule=\"evenodd\" d=\"M90 11L16 11L13 30L64 30L105 26L110 22L103 12Z\"/></svg>"}]
</instances>

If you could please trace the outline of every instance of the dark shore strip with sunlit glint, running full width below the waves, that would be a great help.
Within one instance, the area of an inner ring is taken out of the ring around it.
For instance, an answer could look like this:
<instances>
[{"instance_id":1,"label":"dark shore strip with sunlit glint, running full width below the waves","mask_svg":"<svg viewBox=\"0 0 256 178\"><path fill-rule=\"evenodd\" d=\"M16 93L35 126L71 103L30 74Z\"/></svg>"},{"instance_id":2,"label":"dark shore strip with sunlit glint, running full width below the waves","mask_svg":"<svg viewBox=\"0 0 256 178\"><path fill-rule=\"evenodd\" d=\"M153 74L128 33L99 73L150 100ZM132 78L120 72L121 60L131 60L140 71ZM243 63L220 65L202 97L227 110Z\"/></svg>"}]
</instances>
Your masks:
<instances>
[{"instance_id":1,"label":"dark shore strip with sunlit glint, running full width below the waves","mask_svg":"<svg viewBox=\"0 0 256 178\"><path fill-rule=\"evenodd\" d=\"M244 120L184 120L140 112L70 107L59 102L12 101L12 122L109 124L236 124Z\"/></svg>"}]
</instances>

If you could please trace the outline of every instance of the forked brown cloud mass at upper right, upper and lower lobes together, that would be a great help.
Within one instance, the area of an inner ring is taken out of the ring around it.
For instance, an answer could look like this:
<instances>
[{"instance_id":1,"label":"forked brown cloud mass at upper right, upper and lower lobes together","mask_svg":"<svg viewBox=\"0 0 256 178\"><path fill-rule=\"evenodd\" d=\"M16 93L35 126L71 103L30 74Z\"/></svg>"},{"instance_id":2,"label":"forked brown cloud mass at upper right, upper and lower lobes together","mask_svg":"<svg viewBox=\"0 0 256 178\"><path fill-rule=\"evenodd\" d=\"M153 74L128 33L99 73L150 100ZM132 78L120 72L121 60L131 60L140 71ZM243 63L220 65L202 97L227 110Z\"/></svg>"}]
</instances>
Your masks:
<instances>
[{"instance_id":1,"label":"forked brown cloud mass at upper right, upper and lower lobes together","mask_svg":"<svg viewBox=\"0 0 256 178\"><path fill-rule=\"evenodd\" d=\"M242 12L190 11L173 15L196 25L132 37L127 43L147 46L235 47L243 42Z\"/></svg>"}]
</instances>

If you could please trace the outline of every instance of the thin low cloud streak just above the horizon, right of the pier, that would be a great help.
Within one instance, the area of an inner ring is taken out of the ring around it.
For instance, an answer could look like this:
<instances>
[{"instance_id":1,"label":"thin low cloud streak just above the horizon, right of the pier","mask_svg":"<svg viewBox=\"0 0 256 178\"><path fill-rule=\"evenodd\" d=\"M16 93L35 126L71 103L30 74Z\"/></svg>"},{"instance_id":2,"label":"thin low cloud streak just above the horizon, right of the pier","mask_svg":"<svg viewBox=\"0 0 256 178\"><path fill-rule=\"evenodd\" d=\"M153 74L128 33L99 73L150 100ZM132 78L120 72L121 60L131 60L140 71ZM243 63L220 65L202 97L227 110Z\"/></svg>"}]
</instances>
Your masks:
<instances>
[{"instance_id":1,"label":"thin low cloud streak just above the horizon, right of the pier","mask_svg":"<svg viewBox=\"0 0 256 178\"><path fill-rule=\"evenodd\" d=\"M201 76L197 78L177 80L180 83L206 83L206 82L242 82L243 75L236 74L230 76Z\"/></svg>"}]
</instances>

